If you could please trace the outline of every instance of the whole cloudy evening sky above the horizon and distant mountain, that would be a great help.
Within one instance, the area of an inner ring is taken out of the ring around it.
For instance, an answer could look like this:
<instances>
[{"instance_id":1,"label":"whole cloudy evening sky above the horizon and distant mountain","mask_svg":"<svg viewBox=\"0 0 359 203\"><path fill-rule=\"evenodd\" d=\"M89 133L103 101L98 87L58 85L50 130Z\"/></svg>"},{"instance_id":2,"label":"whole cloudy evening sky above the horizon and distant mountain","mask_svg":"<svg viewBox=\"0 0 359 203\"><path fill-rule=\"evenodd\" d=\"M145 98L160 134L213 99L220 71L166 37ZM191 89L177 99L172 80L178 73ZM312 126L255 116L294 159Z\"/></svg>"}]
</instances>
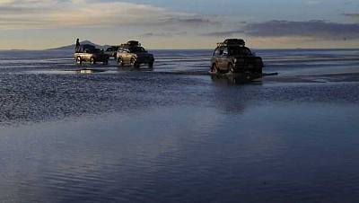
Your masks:
<instances>
[{"instance_id":1,"label":"whole cloudy evening sky above the horizon and distant mountain","mask_svg":"<svg viewBox=\"0 0 359 203\"><path fill-rule=\"evenodd\" d=\"M149 49L359 48L359 0L0 0L0 49L51 49L76 38Z\"/></svg>"}]
</instances>

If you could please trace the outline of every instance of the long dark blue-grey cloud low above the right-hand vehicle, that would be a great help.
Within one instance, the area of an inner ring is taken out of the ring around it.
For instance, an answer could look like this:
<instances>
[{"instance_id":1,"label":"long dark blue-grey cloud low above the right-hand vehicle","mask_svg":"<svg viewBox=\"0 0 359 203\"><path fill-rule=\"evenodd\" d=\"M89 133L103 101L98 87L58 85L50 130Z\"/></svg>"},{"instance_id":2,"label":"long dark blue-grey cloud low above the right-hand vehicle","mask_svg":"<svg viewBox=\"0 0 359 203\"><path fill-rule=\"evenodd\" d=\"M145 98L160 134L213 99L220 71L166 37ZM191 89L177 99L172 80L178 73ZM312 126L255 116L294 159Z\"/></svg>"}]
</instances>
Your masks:
<instances>
[{"instance_id":1,"label":"long dark blue-grey cloud low above the right-hand vehicle","mask_svg":"<svg viewBox=\"0 0 359 203\"><path fill-rule=\"evenodd\" d=\"M263 38L299 37L318 40L353 40L359 39L359 24L325 21L270 21L247 23L237 30L211 32L205 35L231 37L238 34Z\"/></svg>"}]
</instances>

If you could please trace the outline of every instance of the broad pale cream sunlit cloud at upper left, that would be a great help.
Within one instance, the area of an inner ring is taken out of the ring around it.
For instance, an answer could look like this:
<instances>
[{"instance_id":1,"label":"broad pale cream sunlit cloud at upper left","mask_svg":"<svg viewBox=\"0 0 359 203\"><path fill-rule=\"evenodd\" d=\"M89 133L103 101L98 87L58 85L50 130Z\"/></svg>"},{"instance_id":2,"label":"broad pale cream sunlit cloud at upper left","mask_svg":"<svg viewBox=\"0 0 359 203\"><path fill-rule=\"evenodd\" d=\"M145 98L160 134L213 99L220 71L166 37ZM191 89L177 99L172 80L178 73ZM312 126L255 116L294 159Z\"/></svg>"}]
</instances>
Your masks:
<instances>
[{"instance_id":1,"label":"broad pale cream sunlit cloud at upper left","mask_svg":"<svg viewBox=\"0 0 359 203\"><path fill-rule=\"evenodd\" d=\"M3 0L0 29L51 29L106 26L188 26L210 23L195 13L180 13L149 4L90 0Z\"/></svg>"}]
</instances>

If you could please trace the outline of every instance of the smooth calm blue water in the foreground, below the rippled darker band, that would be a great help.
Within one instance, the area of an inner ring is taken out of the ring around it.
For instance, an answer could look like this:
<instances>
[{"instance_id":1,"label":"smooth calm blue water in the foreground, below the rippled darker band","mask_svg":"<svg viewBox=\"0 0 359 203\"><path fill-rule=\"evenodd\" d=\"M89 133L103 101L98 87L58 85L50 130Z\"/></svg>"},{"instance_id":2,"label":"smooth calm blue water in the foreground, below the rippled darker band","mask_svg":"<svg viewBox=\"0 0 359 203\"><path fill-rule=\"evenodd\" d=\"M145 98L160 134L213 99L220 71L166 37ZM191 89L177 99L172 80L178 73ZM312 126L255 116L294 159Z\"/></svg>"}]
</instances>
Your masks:
<instances>
[{"instance_id":1,"label":"smooth calm blue water in the foreground, below the rippled darker band","mask_svg":"<svg viewBox=\"0 0 359 203\"><path fill-rule=\"evenodd\" d=\"M341 190L359 187L355 105L246 106L241 116L198 107L2 128L0 201L358 198Z\"/></svg>"}]
</instances>

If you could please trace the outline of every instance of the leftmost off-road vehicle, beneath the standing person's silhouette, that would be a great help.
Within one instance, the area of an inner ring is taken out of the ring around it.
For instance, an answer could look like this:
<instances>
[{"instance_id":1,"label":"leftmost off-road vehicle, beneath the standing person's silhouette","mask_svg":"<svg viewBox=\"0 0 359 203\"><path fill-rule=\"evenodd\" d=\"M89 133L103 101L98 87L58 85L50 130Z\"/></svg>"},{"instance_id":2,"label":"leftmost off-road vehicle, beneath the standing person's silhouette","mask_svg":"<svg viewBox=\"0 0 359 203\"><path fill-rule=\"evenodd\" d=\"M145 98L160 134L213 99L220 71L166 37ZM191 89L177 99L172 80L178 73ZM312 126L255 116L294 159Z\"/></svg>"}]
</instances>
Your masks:
<instances>
[{"instance_id":1,"label":"leftmost off-road vehicle, beneath the standing person's silhouette","mask_svg":"<svg viewBox=\"0 0 359 203\"><path fill-rule=\"evenodd\" d=\"M107 54L89 44L81 45L74 53L74 58L76 63L80 65L83 64L83 61L90 62L91 64L102 62L104 65L107 65L109 63L109 56Z\"/></svg>"}]
</instances>

